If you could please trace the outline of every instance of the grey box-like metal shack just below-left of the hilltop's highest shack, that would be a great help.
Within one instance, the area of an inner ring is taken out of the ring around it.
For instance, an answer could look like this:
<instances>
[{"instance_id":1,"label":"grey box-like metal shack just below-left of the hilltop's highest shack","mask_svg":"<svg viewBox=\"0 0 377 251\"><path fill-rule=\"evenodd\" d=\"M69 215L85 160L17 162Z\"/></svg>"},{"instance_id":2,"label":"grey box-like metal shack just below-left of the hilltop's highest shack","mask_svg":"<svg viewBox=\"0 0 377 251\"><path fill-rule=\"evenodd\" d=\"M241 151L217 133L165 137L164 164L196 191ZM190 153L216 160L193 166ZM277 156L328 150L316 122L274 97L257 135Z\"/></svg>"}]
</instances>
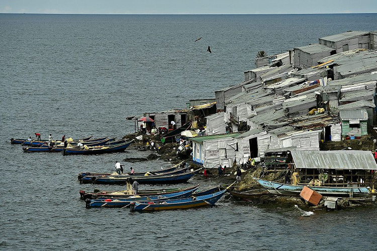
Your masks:
<instances>
[{"instance_id":1,"label":"grey box-like metal shack just below-left of the hilltop's highest shack","mask_svg":"<svg viewBox=\"0 0 377 251\"><path fill-rule=\"evenodd\" d=\"M318 65L320 59L335 54L335 50L321 44L312 44L294 48L293 67L299 69Z\"/></svg>"}]
</instances>

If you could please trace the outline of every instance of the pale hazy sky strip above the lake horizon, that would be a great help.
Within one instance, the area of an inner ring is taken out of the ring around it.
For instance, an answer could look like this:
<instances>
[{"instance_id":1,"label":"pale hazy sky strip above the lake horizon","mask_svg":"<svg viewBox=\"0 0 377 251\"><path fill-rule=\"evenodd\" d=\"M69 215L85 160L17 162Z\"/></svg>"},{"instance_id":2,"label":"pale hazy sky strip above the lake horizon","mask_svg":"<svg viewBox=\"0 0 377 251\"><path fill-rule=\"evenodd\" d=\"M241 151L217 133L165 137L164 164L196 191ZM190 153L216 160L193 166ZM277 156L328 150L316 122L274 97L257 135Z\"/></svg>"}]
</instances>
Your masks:
<instances>
[{"instance_id":1,"label":"pale hazy sky strip above the lake horizon","mask_svg":"<svg viewBox=\"0 0 377 251\"><path fill-rule=\"evenodd\" d=\"M0 0L0 13L332 14L377 13L376 0Z\"/></svg>"}]
</instances>

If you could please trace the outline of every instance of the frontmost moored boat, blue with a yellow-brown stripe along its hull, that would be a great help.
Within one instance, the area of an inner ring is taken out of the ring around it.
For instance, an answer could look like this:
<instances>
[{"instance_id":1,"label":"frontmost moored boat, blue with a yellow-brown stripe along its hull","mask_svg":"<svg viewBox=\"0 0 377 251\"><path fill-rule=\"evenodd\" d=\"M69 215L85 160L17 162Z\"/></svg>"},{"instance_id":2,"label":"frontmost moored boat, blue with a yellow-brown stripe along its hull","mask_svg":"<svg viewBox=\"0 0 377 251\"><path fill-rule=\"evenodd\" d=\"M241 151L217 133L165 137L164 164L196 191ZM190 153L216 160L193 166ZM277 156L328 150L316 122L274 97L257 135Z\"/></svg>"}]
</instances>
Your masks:
<instances>
[{"instance_id":1,"label":"frontmost moored boat, blue with a yellow-brown stripe along its hull","mask_svg":"<svg viewBox=\"0 0 377 251\"><path fill-rule=\"evenodd\" d=\"M158 211L158 210L173 210L173 209L187 209L202 206L213 206L224 195L226 189L208 195L185 199L168 199L164 201L144 201L130 203L131 211Z\"/></svg>"}]
</instances>

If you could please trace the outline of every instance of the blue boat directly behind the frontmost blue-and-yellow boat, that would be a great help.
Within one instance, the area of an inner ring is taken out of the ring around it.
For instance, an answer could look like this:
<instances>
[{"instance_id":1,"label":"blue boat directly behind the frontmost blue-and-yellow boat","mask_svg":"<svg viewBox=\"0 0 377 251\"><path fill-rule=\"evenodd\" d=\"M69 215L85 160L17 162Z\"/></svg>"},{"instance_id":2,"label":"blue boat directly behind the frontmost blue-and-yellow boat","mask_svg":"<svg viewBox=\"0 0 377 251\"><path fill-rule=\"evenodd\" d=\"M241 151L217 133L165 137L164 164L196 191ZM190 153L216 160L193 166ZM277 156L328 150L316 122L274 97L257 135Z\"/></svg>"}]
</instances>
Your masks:
<instances>
[{"instance_id":1,"label":"blue boat directly behind the frontmost blue-and-yellow boat","mask_svg":"<svg viewBox=\"0 0 377 251\"><path fill-rule=\"evenodd\" d=\"M187 198L192 195L195 190L197 190L199 185L195 186L192 189L185 190L185 191L178 191L174 193L164 194L164 195L153 195L153 196L139 196L135 195L133 197L128 198L121 198L121 199L109 199L109 198L98 198L94 200L87 199L86 208L91 207L124 207L130 204L133 201L160 201L160 200L167 200L167 199L180 199L180 198Z\"/></svg>"}]
</instances>

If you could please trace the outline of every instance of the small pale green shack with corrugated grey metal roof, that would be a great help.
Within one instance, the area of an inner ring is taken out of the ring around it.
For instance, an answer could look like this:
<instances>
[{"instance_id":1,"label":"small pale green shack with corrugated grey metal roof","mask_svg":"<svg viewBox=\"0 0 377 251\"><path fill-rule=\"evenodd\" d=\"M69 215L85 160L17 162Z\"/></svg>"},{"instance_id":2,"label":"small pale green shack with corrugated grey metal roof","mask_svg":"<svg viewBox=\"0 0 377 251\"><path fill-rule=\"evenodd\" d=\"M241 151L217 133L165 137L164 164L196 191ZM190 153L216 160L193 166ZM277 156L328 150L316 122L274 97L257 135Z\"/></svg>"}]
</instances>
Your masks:
<instances>
[{"instance_id":1,"label":"small pale green shack with corrugated grey metal roof","mask_svg":"<svg viewBox=\"0 0 377 251\"><path fill-rule=\"evenodd\" d=\"M368 134L366 109L339 111L342 121L342 136L361 137Z\"/></svg>"}]
</instances>

